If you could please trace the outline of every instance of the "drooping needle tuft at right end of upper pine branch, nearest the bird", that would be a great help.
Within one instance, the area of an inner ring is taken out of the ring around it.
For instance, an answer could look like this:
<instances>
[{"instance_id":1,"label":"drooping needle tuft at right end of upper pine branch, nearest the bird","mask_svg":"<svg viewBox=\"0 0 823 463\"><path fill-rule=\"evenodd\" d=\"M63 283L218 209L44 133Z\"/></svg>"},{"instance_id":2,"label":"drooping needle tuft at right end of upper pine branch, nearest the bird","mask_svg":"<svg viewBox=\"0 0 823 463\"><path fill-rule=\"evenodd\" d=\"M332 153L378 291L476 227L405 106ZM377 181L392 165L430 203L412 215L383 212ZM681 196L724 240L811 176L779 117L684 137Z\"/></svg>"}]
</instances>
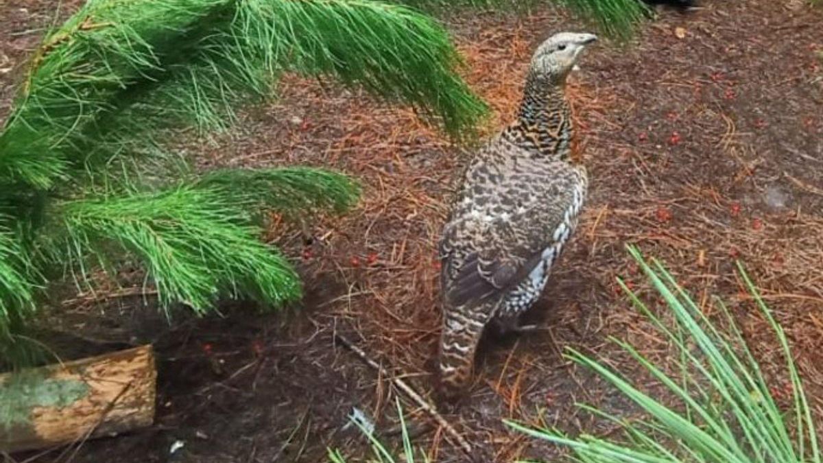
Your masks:
<instances>
[{"instance_id":1,"label":"drooping needle tuft at right end of upper pine branch, nearest the bird","mask_svg":"<svg viewBox=\"0 0 823 463\"><path fill-rule=\"evenodd\" d=\"M455 74L462 60L449 34L407 7L373 0L249 0L238 23L238 35L249 40L245 46L259 49L268 68L285 63L299 72L332 74L414 105L456 136L486 115L486 105Z\"/></svg>"}]
</instances>

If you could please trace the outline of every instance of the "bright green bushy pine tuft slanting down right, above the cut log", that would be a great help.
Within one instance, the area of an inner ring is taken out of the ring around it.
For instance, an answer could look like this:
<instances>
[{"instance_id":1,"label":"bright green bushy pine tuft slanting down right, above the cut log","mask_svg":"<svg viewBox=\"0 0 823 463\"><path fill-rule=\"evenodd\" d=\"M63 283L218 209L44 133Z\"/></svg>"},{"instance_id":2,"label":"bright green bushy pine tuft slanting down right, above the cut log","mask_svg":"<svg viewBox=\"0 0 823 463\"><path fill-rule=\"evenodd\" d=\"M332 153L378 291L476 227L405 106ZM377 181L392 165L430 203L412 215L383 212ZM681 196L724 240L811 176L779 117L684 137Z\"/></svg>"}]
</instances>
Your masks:
<instances>
[{"instance_id":1,"label":"bright green bushy pine tuft slanting down right, above the cut log","mask_svg":"<svg viewBox=\"0 0 823 463\"><path fill-rule=\"evenodd\" d=\"M249 213L217 189L179 186L60 208L45 246L51 255L68 256L72 267L84 269L88 256L105 261L117 246L142 261L164 308L184 302L204 313L218 297L253 297L263 306L300 297L291 264L259 240Z\"/></svg>"}]
</instances>

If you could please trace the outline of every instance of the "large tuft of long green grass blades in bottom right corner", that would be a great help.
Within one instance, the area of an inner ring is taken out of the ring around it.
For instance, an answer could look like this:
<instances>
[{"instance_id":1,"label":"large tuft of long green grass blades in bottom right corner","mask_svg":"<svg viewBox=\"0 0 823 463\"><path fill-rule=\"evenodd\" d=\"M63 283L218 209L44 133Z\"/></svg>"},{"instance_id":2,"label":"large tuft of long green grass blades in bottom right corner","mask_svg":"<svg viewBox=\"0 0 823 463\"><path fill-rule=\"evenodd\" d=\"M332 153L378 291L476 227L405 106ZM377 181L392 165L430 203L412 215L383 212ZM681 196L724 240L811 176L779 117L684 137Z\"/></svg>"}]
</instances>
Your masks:
<instances>
[{"instance_id":1,"label":"large tuft of long green grass blades in bottom right corner","mask_svg":"<svg viewBox=\"0 0 823 463\"><path fill-rule=\"evenodd\" d=\"M644 419L631 421L590 405L582 409L618 424L625 440L611 441L589 434L569 437L556 429L532 428L506 423L520 432L561 446L570 447L578 461L586 462L663 462L705 461L717 463L819 462L821 461L815 423L802 388L797 367L778 325L742 264L738 270L754 297L760 313L769 321L786 360L792 387L788 413L780 409L771 394L760 367L746 346L728 309L719 304L728 324L722 331L704 316L689 295L657 260L647 263L639 250L630 254L643 269L653 288L663 297L675 318L667 326L660 316L641 302L635 292L621 283L635 307L653 322L665 339L680 353L674 368L681 377L664 372L630 344L612 339L665 386L677 402L666 405L663 399L640 391L635 382L593 358L570 349L567 357L587 367L615 386L646 413Z\"/></svg>"}]
</instances>

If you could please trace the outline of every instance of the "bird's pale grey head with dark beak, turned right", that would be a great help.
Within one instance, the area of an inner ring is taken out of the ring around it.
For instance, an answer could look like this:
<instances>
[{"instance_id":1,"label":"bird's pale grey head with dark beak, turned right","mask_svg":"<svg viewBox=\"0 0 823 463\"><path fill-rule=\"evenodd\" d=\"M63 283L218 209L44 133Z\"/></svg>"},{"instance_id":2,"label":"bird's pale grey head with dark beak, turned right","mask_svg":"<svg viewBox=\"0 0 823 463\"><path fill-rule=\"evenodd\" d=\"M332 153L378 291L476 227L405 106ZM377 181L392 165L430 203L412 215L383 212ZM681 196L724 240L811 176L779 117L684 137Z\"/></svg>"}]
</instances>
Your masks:
<instances>
[{"instance_id":1,"label":"bird's pale grey head with dark beak, turned right","mask_svg":"<svg viewBox=\"0 0 823 463\"><path fill-rule=\"evenodd\" d=\"M574 68L586 45L597 40L597 35L560 32L543 42L532 57L532 77L552 82L563 82Z\"/></svg>"}]
</instances>

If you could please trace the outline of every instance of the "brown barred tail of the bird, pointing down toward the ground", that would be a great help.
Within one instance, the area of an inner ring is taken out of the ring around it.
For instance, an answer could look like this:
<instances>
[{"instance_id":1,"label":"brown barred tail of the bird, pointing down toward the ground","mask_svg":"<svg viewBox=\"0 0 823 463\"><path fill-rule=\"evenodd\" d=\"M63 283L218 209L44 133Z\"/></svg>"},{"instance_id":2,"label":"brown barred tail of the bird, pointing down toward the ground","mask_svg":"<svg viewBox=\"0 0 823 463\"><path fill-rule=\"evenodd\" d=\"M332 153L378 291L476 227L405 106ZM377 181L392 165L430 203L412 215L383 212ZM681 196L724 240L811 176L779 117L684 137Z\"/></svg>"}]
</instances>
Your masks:
<instances>
[{"instance_id":1,"label":"brown barred tail of the bird, pointing down toward the ground","mask_svg":"<svg viewBox=\"0 0 823 463\"><path fill-rule=\"evenodd\" d=\"M443 395L455 397L471 384L474 355L488 319L481 311L444 311L439 348L439 379Z\"/></svg>"}]
</instances>

